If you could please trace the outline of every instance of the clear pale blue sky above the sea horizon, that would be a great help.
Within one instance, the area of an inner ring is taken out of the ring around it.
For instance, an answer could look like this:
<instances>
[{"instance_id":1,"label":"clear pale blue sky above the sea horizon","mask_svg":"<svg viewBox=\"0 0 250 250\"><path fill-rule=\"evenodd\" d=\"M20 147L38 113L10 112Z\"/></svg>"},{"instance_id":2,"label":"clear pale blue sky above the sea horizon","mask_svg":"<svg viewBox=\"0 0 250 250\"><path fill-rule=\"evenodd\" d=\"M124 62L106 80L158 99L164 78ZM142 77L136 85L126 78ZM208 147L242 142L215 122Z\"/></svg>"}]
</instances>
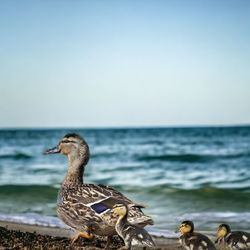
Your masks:
<instances>
[{"instance_id":1,"label":"clear pale blue sky above the sea horizon","mask_svg":"<svg viewBox=\"0 0 250 250\"><path fill-rule=\"evenodd\" d=\"M0 1L0 127L250 124L250 1Z\"/></svg>"}]
</instances>

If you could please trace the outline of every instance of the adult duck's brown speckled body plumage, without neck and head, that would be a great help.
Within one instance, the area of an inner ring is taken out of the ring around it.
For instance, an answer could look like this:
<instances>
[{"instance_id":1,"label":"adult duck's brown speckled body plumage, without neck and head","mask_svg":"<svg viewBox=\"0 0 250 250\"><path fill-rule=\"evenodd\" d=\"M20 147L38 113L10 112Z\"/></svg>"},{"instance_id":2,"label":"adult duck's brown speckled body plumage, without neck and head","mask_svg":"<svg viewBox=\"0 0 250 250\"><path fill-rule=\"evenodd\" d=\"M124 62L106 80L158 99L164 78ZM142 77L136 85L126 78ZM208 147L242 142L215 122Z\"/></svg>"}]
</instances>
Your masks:
<instances>
[{"instance_id":1,"label":"adult duck's brown speckled body plumage, without neck and head","mask_svg":"<svg viewBox=\"0 0 250 250\"><path fill-rule=\"evenodd\" d=\"M101 203L108 209L98 214L92 204ZM125 203L130 207L128 220L132 224L144 227L153 224L150 217L123 194L110 186L82 184L62 186L58 194L58 216L69 226L78 231L91 231L99 235L115 234L117 218L111 209L115 204Z\"/></svg>"}]
</instances>

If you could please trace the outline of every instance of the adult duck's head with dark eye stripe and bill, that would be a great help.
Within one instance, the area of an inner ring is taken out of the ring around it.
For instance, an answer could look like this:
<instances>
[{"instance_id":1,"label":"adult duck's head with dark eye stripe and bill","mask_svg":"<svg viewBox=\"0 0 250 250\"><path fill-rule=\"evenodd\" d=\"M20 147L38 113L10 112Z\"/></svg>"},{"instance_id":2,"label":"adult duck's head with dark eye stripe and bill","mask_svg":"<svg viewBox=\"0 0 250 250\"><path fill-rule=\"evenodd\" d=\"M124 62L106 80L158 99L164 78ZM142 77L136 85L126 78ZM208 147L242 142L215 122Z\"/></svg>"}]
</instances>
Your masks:
<instances>
[{"instance_id":1,"label":"adult duck's head with dark eye stripe and bill","mask_svg":"<svg viewBox=\"0 0 250 250\"><path fill-rule=\"evenodd\" d=\"M48 149L44 154L61 153L67 155L69 158L84 158L85 161L89 159L89 147L86 141L78 134L66 134L58 143L57 146ZM86 162L87 163L87 162Z\"/></svg>"}]
</instances>

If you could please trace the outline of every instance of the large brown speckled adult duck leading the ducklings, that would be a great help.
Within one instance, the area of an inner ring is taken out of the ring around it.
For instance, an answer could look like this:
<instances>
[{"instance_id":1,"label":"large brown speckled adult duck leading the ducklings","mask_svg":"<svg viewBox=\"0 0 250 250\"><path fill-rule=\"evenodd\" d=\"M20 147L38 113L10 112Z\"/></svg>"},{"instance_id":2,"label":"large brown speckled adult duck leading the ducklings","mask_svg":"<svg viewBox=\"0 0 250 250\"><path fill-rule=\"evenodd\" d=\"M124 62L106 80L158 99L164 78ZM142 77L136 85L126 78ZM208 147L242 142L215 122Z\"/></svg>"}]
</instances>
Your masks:
<instances>
[{"instance_id":1,"label":"large brown speckled adult duck leading the ducklings","mask_svg":"<svg viewBox=\"0 0 250 250\"><path fill-rule=\"evenodd\" d=\"M130 208L130 223L140 227L153 224L152 219L141 211L143 206L136 206L112 187L83 183L89 147L79 135L67 134L56 147L45 151L45 154L56 153L68 156L68 171L58 193L57 214L78 232L73 242L79 236L91 238L93 234L108 236L110 242L112 235L116 234L116 218L112 216L111 210L119 203L125 203Z\"/></svg>"}]
</instances>

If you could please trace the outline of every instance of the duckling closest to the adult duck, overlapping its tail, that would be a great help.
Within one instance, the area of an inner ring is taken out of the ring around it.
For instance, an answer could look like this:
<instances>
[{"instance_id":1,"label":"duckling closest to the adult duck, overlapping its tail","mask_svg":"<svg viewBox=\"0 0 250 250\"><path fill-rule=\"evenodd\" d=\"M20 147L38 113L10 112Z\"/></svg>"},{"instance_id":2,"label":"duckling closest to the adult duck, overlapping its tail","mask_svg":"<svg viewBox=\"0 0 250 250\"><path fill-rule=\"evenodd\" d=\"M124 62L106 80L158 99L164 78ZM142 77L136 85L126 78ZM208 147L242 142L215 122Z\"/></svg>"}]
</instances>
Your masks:
<instances>
[{"instance_id":1,"label":"duckling closest to the adult duck, overlapping its tail","mask_svg":"<svg viewBox=\"0 0 250 250\"><path fill-rule=\"evenodd\" d=\"M134 245L155 246L152 237L148 232L128 222L128 207L125 204L117 204L113 208L113 214L118 215L115 225L116 232L123 239L126 249L132 249Z\"/></svg>"}]
</instances>

